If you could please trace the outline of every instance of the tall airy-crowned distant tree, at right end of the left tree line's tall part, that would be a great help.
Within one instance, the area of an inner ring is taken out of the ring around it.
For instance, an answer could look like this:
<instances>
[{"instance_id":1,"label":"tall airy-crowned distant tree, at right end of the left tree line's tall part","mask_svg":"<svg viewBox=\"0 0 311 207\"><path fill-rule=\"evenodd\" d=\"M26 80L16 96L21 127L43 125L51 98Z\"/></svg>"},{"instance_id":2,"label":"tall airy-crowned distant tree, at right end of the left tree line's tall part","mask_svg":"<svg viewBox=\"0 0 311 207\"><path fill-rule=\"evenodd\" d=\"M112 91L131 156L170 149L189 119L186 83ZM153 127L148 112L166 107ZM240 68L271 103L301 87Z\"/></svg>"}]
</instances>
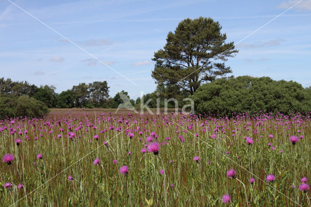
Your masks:
<instances>
[{"instance_id":1,"label":"tall airy-crowned distant tree, at right end of the left tree line's tall part","mask_svg":"<svg viewBox=\"0 0 311 207\"><path fill-rule=\"evenodd\" d=\"M109 87L106 81L95 81L88 84L90 98L96 107L103 107L109 98Z\"/></svg>"}]
</instances>

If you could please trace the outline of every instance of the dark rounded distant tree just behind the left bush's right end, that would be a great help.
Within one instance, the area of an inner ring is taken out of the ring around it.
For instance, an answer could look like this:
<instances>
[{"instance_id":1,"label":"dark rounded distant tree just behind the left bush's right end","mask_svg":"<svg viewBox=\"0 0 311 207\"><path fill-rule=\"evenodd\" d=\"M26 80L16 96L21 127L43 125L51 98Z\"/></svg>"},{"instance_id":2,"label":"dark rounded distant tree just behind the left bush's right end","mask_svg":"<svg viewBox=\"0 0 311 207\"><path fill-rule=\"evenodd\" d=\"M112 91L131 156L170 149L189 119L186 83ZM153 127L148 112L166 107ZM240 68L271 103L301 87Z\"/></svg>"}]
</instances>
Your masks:
<instances>
[{"instance_id":1,"label":"dark rounded distant tree just behind the left bush's right end","mask_svg":"<svg viewBox=\"0 0 311 207\"><path fill-rule=\"evenodd\" d=\"M45 103L49 108L55 108L58 94L55 93L55 86L40 86L34 94L34 98Z\"/></svg>"}]
</instances>

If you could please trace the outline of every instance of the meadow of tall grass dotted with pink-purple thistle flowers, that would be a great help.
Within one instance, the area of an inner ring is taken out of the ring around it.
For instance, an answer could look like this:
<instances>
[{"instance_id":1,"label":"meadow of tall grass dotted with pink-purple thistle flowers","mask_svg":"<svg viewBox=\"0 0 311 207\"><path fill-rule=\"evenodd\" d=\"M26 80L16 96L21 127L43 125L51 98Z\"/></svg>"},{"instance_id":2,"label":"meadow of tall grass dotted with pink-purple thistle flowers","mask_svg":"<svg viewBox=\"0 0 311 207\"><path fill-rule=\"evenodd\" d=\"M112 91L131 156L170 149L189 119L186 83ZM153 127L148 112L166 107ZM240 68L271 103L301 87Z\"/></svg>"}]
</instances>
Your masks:
<instances>
[{"instance_id":1,"label":"meadow of tall grass dotted with pink-purple thistle flowers","mask_svg":"<svg viewBox=\"0 0 311 207\"><path fill-rule=\"evenodd\" d=\"M311 113L0 121L1 206L311 206Z\"/></svg>"}]
</instances>

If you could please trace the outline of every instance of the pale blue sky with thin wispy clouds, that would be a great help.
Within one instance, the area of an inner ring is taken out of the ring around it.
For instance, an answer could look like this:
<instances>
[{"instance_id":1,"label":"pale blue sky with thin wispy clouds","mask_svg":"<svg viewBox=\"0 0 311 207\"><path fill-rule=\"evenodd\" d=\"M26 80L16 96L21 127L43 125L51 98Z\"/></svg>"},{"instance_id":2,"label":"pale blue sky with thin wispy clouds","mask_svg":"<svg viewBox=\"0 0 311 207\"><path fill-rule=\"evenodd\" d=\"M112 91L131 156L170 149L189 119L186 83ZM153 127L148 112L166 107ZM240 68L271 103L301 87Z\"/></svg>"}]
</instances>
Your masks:
<instances>
[{"instance_id":1,"label":"pale blue sky with thin wispy clouds","mask_svg":"<svg viewBox=\"0 0 311 207\"><path fill-rule=\"evenodd\" d=\"M311 0L1 0L0 77L53 85L107 81L136 99L155 90L154 52L185 18L211 17L239 50L234 76L311 86ZM14 5L14 4L16 5ZM20 8L18 8L18 7ZM28 13L28 14L27 14ZM280 15L279 17L277 17Z\"/></svg>"}]
</instances>

